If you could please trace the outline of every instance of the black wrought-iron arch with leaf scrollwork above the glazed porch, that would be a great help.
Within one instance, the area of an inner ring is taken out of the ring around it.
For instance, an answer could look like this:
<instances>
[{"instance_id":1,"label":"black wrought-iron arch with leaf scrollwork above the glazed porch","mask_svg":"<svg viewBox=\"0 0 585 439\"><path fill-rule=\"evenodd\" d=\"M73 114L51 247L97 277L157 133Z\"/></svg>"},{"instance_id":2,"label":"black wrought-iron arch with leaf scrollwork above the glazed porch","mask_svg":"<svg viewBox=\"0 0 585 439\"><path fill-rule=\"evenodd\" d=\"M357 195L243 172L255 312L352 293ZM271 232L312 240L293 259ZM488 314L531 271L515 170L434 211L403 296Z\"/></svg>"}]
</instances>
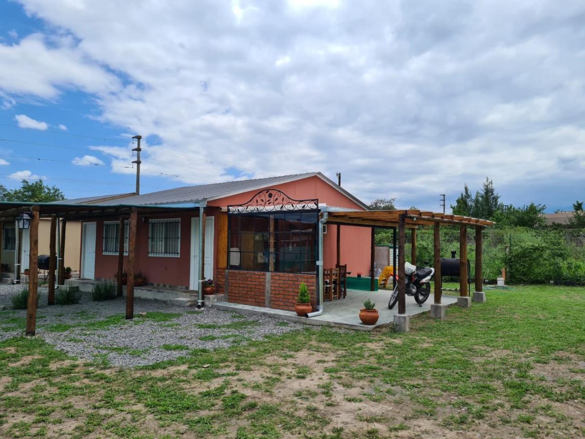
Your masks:
<instances>
[{"instance_id":1,"label":"black wrought-iron arch with leaf scrollwork above the glazed porch","mask_svg":"<svg viewBox=\"0 0 585 439\"><path fill-rule=\"evenodd\" d=\"M230 214L253 212L278 212L291 210L315 210L319 200L295 200L278 189L264 189L250 198L247 203L228 205Z\"/></svg>"}]
</instances>

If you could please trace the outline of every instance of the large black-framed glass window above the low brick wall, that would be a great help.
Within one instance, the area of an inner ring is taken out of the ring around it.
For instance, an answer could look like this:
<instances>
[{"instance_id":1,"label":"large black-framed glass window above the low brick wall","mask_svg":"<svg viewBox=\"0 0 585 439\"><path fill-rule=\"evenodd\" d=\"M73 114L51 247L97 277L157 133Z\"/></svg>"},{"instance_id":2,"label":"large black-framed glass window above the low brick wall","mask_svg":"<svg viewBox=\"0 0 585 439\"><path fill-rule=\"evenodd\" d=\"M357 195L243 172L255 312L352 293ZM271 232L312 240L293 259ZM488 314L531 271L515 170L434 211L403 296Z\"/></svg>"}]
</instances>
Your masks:
<instances>
[{"instance_id":1,"label":"large black-framed glass window above the low brick wall","mask_svg":"<svg viewBox=\"0 0 585 439\"><path fill-rule=\"evenodd\" d=\"M278 212L229 216L232 269L315 273L316 212Z\"/></svg>"}]
</instances>

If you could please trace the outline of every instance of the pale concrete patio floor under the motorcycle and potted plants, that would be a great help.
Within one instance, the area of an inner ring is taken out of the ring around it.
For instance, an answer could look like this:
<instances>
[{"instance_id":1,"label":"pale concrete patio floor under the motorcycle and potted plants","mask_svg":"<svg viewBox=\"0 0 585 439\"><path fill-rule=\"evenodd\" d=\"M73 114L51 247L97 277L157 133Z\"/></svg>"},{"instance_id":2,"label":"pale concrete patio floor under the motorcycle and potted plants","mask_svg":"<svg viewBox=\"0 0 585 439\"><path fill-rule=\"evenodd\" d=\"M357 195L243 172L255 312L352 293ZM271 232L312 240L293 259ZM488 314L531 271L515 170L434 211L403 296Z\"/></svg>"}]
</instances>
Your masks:
<instances>
[{"instance_id":1,"label":"pale concrete patio floor under the motorcycle and potted plants","mask_svg":"<svg viewBox=\"0 0 585 439\"><path fill-rule=\"evenodd\" d=\"M214 308L225 311L247 315L269 315L274 318L288 320L296 323L305 323L309 325L325 325L348 328L352 330L371 331L374 328L384 327L394 324L394 314L398 314L398 304L394 309L388 309L390 300L390 290L379 291L359 291L347 290L347 297L341 300L325 301L323 314L318 317L298 317L294 311L276 310L273 308L264 308L259 306L242 305L238 303L221 302L214 304ZM364 325L360 321L359 311L363 308L363 301L370 299L376 303L376 308L380 318L375 325ZM229 300L229 299L228 299ZM426 313L431 309L432 295L419 307L414 301L414 297L406 297L406 313L411 317L414 315ZM442 303L448 306L457 304L456 296L443 296Z\"/></svg>"}]
</instances>

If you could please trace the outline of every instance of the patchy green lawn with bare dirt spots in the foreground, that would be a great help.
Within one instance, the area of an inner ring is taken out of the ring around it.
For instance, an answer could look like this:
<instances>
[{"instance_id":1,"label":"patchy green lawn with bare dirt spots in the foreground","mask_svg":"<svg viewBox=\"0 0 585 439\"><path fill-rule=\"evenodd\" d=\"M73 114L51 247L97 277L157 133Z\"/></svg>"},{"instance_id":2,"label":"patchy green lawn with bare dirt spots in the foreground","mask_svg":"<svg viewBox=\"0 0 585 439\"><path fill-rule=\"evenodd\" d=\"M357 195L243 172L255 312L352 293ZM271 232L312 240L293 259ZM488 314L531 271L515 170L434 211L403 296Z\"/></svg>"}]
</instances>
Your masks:
<instances>
[{"instance_id":1,"label":"patchy green lawn with bare dirt spots in the foreground","mask_svg":"<svg viewBox=\"0 0 585 439\"><path fill-rule=\"evenodd\" d=\"M487 300L409 334L307 327L135 369L8 339L0 436L585 436L585 290Z\"/></svg>"}]
</instances>

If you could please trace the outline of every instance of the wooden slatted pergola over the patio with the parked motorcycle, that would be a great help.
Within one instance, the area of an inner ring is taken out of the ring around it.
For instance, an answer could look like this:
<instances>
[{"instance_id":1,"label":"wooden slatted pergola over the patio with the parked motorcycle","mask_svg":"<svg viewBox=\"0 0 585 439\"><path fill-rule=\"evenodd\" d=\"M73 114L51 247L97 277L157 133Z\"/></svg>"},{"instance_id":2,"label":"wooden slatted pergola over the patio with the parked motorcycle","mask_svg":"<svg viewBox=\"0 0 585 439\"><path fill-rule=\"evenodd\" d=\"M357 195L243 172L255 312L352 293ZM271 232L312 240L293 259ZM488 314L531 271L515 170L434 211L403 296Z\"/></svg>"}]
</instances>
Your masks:
<instances>
[{"instance_id":1,"label":"wooden slatted pergola over the patio with the parked motorcycle","mask_svg":"<svg viewBox=\"0 0 585 439\"><path fill-rule=\"evenodd\" d=\"M475 291L483 291L483 272L481 269L482 231L484 227L493 225L493 221L462 215L443 214L439 212L422 210L376 210L376 211L343 211L328 212L328 224L353 225L371 228L371 290L374 290L374 229L393 228L398 231L398 313L406 313L405 291L405 233L411 230L411 263L417 263L417 228L421 225L433 226L435 268L434 303L441 304L441 225L459 226L459 296L469 297L467 287L467 227L475 228L476 259L475 259Z\"/></svg>"}]
</instances>

